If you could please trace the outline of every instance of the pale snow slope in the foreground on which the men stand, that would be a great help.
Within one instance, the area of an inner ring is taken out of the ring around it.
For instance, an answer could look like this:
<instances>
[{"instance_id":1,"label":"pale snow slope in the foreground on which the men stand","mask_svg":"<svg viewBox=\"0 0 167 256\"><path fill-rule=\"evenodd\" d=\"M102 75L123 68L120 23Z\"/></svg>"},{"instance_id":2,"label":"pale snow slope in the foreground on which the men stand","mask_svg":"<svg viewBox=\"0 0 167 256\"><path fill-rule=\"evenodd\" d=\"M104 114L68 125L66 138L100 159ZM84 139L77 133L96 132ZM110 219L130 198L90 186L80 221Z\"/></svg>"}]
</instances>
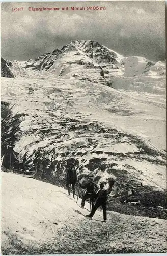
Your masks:
<instances>
[{"instance_id":1,"label":"pale snow slope in the foreground on which the men stand","mask_svg":"<svg viewBox=\"0 0 167 256\"><path fill-rule=\"evenodd\" d=\"M11 173L2 173L1 193L3 254L143 253L167 249L165 220L108 212L107 223L103 223L99 210L90 221L84 217L88 210L81 209L65 189Z\"/></svg>"}]
</instances>

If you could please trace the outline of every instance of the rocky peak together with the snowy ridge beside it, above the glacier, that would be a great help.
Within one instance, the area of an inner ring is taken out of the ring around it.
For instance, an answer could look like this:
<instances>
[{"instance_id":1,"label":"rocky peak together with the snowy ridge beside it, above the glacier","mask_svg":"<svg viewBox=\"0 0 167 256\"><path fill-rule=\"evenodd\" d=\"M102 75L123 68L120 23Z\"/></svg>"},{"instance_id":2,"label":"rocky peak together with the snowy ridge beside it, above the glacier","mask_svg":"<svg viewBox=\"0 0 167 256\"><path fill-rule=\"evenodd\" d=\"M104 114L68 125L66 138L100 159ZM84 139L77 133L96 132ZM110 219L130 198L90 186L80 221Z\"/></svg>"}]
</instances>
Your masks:
<instances>
[{"instance_id":1,"label":"rocky peak together with the snowy ridge beside it, above the glacier","mask_svg":"<svg viewBox=\"0 0 167 256\"><path fill-rule=\"evenodd\" d=\"M124 57L91 40L69 42L62 49L35 59L17 64L15 61L14 66L18 66L17 70L20 67L21 73L28 69L45 70L63 77L99 81L115 89L150 93L163 93L165 90L164 62L155 63L138 56ZM18 75L19 70L16 72Z\"/></svg>"}]
</instances>

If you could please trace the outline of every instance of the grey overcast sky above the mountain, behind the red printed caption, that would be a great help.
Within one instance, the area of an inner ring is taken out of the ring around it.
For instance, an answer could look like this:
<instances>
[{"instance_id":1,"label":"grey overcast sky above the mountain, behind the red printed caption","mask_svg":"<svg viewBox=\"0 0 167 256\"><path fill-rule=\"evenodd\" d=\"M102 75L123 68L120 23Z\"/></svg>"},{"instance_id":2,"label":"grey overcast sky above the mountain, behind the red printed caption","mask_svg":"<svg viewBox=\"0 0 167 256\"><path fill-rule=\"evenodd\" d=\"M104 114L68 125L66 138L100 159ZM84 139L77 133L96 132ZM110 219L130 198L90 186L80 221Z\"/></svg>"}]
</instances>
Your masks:
<instances>
[{"instance_id":1,"label":"grey overcast sky above the mountain, behind the red printed caption","mask_svg":"<svg viewBox=\"0 0 167 256\"><path fill-rule=\"evenodd\" d=\"M105 11L31 12L29 7L105 6ZM12 12L23 7L22 12ZM124 56L165 59L165 4L157 1L2 3L1 55L27 60L71 40L96 40Z\"/></svg>"}]
</instances>

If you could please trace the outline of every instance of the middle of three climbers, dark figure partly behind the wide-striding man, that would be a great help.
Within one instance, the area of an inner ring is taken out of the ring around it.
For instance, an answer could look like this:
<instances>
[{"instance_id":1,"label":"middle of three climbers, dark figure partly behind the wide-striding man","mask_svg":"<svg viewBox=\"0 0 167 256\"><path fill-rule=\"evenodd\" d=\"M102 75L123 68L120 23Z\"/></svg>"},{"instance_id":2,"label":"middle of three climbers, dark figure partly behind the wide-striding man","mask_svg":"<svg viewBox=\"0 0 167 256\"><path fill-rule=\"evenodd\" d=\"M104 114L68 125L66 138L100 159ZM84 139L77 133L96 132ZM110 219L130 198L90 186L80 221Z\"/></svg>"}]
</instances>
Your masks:
<instances>
[{"instance_id":1,"label":"middle of three climbers, dark figure partly behind the wide-striding man","mask_svg":"<svg viewBox=\"0 0 167 256\"><path fill-rule=\"evenodd\" d=\"M84 208L85 201L88 198L91 198L92 206L94 206L94 204L95 204L95 197L96 197L96 191L97 191L98 187L97 187L96 183L93 182L93 176L91 176L89 178L89 181L85 185L81 185L80 184L80 187L87 189L85 195L82 197L81 208Z\"/></svg>"}]
</instances>

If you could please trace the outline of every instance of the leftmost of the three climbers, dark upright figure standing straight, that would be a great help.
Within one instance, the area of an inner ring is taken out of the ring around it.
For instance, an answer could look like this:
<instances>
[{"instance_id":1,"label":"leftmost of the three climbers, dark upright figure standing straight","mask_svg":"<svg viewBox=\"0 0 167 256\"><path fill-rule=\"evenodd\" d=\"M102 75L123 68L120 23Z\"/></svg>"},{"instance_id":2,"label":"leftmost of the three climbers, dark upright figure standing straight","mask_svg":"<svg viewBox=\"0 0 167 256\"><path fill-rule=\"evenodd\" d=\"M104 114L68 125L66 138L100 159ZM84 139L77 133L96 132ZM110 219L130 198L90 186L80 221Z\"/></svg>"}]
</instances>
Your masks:
<instances>
[{"instance_id":1,"label":"leftmost of the three climbers, dark upright figure standing straight","mask_svg":"<svg viewBox=\"0 0 167 256\"><path fill-rule=\"evenodd\" d=\"M68 195L70 196L70 186L72 185L73 198L75 198L75 184L77 182L77 173L75 169L69 168L67 170L66 187L68 188Z\"/></svg>"}]
</instances>

